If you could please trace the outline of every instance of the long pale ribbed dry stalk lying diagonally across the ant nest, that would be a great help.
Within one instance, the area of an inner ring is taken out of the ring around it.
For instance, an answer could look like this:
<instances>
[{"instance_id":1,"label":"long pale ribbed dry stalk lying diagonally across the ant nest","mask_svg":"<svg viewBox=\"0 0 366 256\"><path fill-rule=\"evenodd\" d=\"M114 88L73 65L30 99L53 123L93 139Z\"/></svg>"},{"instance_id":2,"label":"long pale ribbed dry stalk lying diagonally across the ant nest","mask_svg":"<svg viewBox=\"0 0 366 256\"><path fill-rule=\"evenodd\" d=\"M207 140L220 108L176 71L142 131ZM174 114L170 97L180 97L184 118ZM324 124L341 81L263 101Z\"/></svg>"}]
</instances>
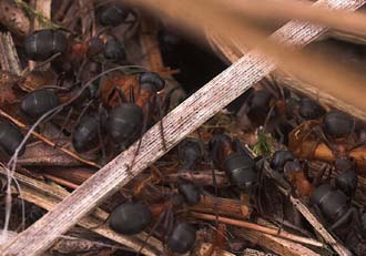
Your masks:
<instances>
[{"instance_id":1,"label":"long pale ribbed dry stalk lying diagonally across the ant nest","mask_svg":"<svg viewBox=\"0 0 366 256\"><path fill-rule=\"evenodd\" d=\"M348 10L357 9L363 3L345 0L319 2L329 3L332 8ZM273 38L286 45L303 47L324 31L326 29L318 25L289 22ZM167 150L175 146L184 136L201 126L274 69L273 61L257 51L251 51L214 78L163 119ZM138 143L134 143L62 201L53 211L39 219L37 225L21 233L2 253L6 255L38 255L49 248L62 233L77 224L101 201L166 153L162 141L156 140L160 137L160 124L155 124L145 133L138 155L135 154ZM133 166L131 163L134 163Z\"/></svg>"}]
</instances>

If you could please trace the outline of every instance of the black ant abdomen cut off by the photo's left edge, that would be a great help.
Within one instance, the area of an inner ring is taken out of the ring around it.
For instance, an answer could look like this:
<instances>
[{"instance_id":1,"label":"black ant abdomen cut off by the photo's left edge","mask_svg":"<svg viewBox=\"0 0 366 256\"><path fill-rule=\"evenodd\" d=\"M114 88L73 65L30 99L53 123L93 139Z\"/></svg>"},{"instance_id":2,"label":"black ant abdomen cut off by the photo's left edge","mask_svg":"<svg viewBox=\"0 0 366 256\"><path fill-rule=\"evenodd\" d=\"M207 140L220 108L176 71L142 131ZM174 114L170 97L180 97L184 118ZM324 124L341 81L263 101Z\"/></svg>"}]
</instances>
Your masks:
<instances>
[{"instance_id":1,"label":"black ant abdomen cut off by the photo's left edge","mask_svg":"<svg viewBox=\"0 0 366 256\"><path fill-rule=\"evenodd\" d=\"M10 122L0 123L0 146L9 155L13 155L20 143L23 141L23 134L20 129ZM24 153L21 149L19 155Z\"/></svg>"}]
</instances>

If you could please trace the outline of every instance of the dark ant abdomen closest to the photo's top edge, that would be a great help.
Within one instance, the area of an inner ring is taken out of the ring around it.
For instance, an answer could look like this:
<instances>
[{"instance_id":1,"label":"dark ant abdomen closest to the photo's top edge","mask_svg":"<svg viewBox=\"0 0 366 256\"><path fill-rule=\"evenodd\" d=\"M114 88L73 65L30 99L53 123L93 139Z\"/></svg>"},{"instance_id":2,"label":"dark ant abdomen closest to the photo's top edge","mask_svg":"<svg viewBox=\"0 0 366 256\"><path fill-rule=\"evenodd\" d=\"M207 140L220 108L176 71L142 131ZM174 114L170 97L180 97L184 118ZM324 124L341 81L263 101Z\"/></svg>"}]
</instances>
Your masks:
<instances>
[{"instance_id":1,"label":"dark ant abdomen closest to the photo's top edge","mask_svg":"<svg viewBox=\"0 0 366 256\"><path fill-rule=\"evenodd\" d=\"M122 24L130 11L121 4L109 4L99 12L99 22L105 27Z\"/></svg>"}]
</instances>

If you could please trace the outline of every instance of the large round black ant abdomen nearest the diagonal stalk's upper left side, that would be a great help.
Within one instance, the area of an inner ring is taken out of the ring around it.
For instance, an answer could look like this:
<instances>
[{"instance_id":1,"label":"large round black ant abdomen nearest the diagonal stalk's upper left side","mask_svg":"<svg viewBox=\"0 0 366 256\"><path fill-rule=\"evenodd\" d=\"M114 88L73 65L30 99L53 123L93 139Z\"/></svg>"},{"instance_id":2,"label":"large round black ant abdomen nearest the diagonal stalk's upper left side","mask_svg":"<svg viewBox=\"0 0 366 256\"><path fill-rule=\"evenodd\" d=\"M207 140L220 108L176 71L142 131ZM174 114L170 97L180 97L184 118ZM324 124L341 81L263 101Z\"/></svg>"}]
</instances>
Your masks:
<instances>
[{"instance_id":1,"label":"large round black ant abdomen nearest the diagonal stalk's upper left side","mask_svg":"<svg viewBox=\"0 0 366 256\"><path fill-rule=\"evenodd\" d=\"M133 103L123 103L110 112L105 129L111 139L121 145L135 141L141 134L142 126L142 109Z\"/></svg>"}]
</instances>

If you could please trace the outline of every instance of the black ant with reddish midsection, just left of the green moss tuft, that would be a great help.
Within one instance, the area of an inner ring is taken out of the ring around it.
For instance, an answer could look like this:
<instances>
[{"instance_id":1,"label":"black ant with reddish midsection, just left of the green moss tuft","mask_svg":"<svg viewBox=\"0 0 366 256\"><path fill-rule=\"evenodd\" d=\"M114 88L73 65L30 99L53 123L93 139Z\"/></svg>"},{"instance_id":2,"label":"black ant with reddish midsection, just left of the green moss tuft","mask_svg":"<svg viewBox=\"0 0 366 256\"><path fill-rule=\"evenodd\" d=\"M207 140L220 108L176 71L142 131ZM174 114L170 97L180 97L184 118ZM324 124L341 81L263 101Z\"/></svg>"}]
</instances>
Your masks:
<instances>
[{"instance_id":1,"label":"black ant with reddish midsection, just left of the green moss tuft","mask_svg":"<svg viewBox=\"0 0 366 256\"><path fill-rule=\"evenodd\" d=\"M215 135L211 142L211 154L217 168L225 171L231 183L250 192L257 184L255 161L226 135Z\"/></svg>"}]
</instances>

